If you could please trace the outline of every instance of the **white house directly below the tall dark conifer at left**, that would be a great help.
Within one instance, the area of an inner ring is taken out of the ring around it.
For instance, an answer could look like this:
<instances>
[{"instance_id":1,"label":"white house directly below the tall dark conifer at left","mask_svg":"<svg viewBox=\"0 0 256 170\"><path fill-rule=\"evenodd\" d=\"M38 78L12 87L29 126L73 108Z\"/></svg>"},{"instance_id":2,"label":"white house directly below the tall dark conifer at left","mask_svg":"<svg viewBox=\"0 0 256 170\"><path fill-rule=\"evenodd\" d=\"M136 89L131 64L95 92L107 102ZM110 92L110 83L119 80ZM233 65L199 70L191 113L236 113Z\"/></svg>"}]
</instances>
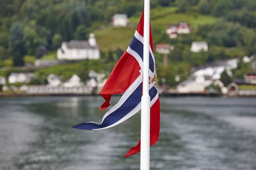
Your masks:
<instances>
[{"instance_id":1,"label":"white house directly below the tall dark conifer at left","mask_svg":"<svg viewBox=\"0 0 256 170\"><path fill-rule=\"evenodd\" d=\"M33 77L36 77L34 73L12 73L8 77L8 82L10 84L13 84L13 83L16 83L16 82L27 83Z\"/></svg>"}]
</instances>

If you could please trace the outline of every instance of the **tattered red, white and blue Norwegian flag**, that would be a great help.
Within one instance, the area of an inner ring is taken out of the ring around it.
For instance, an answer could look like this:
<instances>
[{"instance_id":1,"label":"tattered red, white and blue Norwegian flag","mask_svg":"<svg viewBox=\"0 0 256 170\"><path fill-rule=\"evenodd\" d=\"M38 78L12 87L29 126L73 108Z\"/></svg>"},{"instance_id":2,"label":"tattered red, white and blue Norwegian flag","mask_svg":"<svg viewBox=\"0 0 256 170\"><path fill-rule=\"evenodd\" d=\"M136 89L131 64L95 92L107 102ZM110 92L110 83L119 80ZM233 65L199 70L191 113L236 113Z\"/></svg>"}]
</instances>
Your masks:
<instances>
[{"instance_id":1,"label":"tattered red, white and blue Norwegian flag","mask_svg":"<svg viewBox=\"0 0 256 170\"><path fill-rule=\"evenodd\" d=\"M85 122L73 128L100 130L118 125L141 110L143 88L143 26L144 11L128 49L117 62L99 94L105 99L101 110L108 108L112 94L123 93L119 102L104 116L100 124ZM149 96L150 96L150 146L158 141L160 131L160 101L157 90L157 72L154 59L153 40L149 35ZM140 152L140 141L125 157Z\"/></svg>"}]
</instances>

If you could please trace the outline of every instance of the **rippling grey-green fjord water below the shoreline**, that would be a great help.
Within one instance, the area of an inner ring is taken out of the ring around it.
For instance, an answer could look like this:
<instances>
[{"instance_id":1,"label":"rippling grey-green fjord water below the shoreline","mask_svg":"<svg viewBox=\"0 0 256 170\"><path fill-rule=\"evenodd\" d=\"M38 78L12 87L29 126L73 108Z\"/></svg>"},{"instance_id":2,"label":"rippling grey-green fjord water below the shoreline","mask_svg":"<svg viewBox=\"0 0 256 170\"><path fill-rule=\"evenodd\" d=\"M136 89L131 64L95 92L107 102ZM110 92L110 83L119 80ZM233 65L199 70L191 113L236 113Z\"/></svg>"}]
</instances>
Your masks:
<instances>
[{"instance_id":1,"label":"rippling grey-green fjord water below the shoreline","mask_svg":"<svg viewBox=\"0 0 256 170\"><path fill-rule=\"evenodd\" d=\"M113 98L112 104L118 102ZM256 170L256 98L160 98L151 170ZM106 130L100 97L0 99L0 170L139 170L140 113Z\"/></svg>"}]
</instances>

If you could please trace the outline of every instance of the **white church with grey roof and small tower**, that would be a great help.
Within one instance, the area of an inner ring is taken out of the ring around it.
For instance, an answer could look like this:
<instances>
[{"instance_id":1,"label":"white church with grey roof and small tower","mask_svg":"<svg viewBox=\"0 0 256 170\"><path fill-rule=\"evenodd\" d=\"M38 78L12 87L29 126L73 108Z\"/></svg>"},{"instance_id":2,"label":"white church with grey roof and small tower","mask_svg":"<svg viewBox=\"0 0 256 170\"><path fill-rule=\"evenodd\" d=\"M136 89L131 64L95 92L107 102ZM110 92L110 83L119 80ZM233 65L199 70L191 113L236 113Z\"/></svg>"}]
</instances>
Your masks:
<instances>
[{"instance_id":1,"label":"white church with grey roof and small tower","mask_svg":"<svg viewBox=\"0 0 256 170\"><path fill-rule=\"evenodd\" d=\"M99 46L96 43L94 34L90 34L88 41L71 40L62 42L61 48L58 48L58 59L99 59Z\"/></svg>"}]
</instances>

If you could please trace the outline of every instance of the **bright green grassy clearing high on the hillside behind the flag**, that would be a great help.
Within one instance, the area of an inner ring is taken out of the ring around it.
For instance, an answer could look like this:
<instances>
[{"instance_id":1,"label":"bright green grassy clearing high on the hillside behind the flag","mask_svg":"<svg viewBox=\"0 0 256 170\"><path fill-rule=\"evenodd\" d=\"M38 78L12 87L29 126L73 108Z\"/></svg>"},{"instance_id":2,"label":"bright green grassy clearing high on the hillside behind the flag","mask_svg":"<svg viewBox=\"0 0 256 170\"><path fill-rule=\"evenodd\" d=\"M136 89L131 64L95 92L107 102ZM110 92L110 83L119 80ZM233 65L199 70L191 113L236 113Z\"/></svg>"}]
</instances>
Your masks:
<instances>
[{"instance_id":1,"label":"bright green grassy clearing high on the hillside behind the flag","mask_svg":"<svg viewBox=\"0 0 256 170\"><path fill-rule=\"evenodd\" d=\"M199 25L214 23L217 18L202 14L184 14L176 13L176 7L158 7L150 11L152 28L165 29L170 24L179 22L188 22L192 29L196 30ZM95 31L97 43L102 51L110 49L115 50L128 48L131 42L137 23L140 20L141 13L130 17L129 21L132 26L125 28L113 28L111 26ZM158 35L154 35L158 36Z\"/></svg>"}]
</instances>

